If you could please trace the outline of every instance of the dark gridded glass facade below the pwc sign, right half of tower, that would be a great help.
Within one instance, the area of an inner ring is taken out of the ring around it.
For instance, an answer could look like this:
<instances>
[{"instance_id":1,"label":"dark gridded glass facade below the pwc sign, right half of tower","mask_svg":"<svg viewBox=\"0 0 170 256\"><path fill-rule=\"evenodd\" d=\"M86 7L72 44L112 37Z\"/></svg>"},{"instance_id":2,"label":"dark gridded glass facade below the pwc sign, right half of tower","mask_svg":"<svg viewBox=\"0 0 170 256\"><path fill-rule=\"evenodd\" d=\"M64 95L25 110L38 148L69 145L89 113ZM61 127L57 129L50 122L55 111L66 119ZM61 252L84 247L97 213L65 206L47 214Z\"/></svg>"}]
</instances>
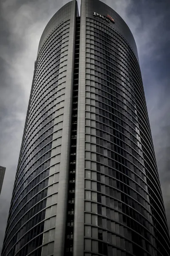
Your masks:
<instances>
[{"instance_id":1,"label":"dark gridded glass facade below the pwc sign, right half of tower","mask_svg":"<svg viewBox=\"0 0 170 256\"><path fill-rule=\"evenodd\" d=\"M113 29L90 18L86 52L85 251L168 255L138 61Z\"/></svg>"}]
</instances>

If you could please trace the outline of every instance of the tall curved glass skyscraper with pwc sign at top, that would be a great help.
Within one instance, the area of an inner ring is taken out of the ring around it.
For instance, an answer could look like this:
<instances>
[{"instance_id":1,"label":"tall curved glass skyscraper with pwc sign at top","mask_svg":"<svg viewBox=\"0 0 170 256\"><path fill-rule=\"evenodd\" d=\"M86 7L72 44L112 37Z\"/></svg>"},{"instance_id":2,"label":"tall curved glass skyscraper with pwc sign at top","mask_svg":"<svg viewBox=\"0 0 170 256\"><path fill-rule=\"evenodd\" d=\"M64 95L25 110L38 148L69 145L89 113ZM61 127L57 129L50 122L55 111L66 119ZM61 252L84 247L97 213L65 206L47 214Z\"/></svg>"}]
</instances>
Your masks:
<instances>
[{"instance_id":1,"label":"tall curved glass skyscraper with pwc sign at top","mask_svg":"<svg viewBox=\"0 0 170 256\"><path fill-rule=\"evenodd\" d=\"M99 0L40 39L2 256L169 256L136 44Z\"/></svg>"}]
</instances>

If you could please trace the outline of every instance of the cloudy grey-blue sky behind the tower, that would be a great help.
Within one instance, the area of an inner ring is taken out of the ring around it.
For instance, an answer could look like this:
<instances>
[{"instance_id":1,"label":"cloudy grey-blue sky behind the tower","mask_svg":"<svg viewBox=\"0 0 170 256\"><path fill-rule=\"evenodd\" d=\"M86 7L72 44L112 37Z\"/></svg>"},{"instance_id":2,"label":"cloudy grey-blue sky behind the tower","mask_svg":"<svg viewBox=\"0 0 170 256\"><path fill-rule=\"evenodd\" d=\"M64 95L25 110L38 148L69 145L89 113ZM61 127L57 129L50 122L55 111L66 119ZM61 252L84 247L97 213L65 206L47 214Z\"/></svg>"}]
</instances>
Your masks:
<instances>
[{"instance_id":1,"label":"cloudy grey-blue sky behind the tower","mask_svg":"<svg viewBox=\"0 0 170 256\"><path fill-rule=\"evenodd\" d=\"M0 0L0 250L23 135L37 47L68 0ZM164 204L170 226L170 0L103 0L136 40Z\"/></svg>"}]
</instances>

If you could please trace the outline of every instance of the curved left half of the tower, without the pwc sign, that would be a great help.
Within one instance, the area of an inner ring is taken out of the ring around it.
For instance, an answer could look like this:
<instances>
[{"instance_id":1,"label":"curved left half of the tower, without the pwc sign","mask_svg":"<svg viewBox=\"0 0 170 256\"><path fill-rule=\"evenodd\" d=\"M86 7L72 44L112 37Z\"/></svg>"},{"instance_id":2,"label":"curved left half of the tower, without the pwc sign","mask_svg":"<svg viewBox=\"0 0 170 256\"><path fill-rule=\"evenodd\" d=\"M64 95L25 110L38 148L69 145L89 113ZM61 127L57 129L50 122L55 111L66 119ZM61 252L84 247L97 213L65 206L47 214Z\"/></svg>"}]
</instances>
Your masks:
<instances>
[{"instance_id":1,"label":"curved left half of the tower, without the pwc sign","mask_svg":"<svg viewBox=\"0 0 170 256\"><path fill-rule=\"evenodd\" d=\"M2 256L53 255L63 243L76 17L72 1L40 40Z\"/></svg>"}]
</instances>

